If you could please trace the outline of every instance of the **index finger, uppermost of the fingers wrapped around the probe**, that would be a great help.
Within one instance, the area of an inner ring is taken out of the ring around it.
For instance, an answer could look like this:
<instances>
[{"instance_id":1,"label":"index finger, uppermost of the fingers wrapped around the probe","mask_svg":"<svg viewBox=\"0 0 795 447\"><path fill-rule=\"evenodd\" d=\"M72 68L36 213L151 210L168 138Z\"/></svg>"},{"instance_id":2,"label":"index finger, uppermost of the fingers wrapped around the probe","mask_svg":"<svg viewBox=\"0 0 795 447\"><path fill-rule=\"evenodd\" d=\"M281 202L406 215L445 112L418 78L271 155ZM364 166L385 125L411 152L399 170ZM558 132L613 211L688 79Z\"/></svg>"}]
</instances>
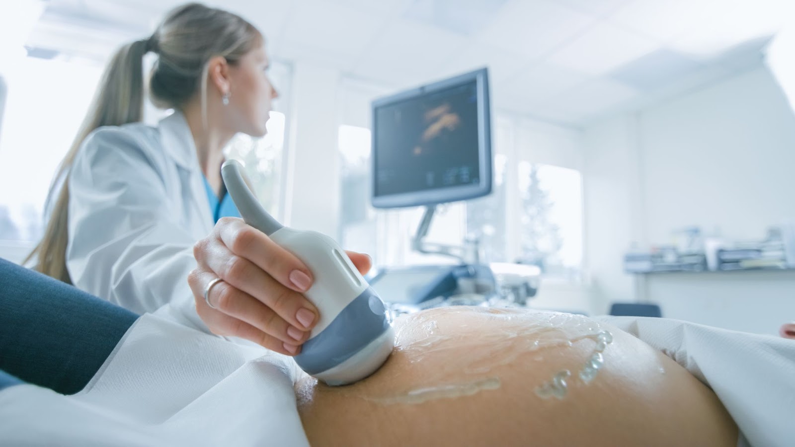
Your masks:
<instances>
[{"instance_id":1,"label":"index finger, uppermost of the fingers wrapped around the probe","mask_svg":"<svg viewBox=\"0 0 795 447\"><path fill-rule=\"evenodd\" d=\"M250 259L283 286L297 292L312 286L312 272L301 259L242 219L220 219L215 224L215 234L232 253Z\"/></svg>"}]
</instances>

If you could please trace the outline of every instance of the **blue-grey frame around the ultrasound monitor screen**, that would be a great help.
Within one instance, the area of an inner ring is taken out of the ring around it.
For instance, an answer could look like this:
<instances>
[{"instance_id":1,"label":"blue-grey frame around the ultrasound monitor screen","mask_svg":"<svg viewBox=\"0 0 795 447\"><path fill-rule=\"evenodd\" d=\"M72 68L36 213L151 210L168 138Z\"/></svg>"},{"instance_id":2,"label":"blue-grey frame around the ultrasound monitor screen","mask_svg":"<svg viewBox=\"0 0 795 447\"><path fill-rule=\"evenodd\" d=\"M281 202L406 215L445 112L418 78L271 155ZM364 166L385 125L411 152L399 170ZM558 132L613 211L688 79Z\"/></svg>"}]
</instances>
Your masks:
<instances>
[{"instance_id":1,"label":"blue-grey frame around the ultrasound monitor screen","mask_svg":"<svg viewBox=\"0 0 795 447\"><path fill-rule=\"evenodd\" d=\"M475 185L458 185L448 188L429 189L424 191L399 192L395 194L376 195L376 170L378 166L378 150L376 150L376 135L378 134L378 120L375 117L378 107L400 103L421 95L435 91L457 87L475 81L475 91L478 97L478 153L479 153L479 183ZM375 99L371 107L373 130L372 142L372 169L370 173L370 198L374 208L406 208L423 205L443 204L459 200L475 199L491 193L491 102L489 99L488 69L480 68L446 80L436 81L401 91L394 95Z\"/></svg>"}]
</instances>

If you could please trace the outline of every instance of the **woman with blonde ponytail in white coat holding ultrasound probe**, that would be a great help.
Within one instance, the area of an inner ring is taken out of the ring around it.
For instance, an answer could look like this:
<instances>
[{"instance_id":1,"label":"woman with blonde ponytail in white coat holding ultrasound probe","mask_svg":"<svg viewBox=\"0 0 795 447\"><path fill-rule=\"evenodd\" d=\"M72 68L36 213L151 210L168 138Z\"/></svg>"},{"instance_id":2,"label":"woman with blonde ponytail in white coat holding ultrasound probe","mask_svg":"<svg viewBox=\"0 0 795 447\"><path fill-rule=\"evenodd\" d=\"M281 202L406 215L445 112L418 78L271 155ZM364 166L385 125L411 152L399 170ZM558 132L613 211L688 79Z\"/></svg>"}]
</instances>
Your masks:
<instances>
[{"instance_id":1,"label":"woman with blonde ponytail in white coat holding ultrasound probe","mask_svg":"<svg viewBox=\"0 0 795 447\"><path fill-rule=\"evenodd\" d=\"M156 127L140 122L147 52L158 56L153 103L174 111ZM267 68L253 25L196 3L119 49L60 165L65 181L31 254L37 270L134 313L170 304L200 328L297 354L318 319L301 295L312 272L222 217L238 216L220 176L223 147L238 132L266 134L278 96ZM368 256L349 255L369 269Z\"/></svg>"}]
</instances>

